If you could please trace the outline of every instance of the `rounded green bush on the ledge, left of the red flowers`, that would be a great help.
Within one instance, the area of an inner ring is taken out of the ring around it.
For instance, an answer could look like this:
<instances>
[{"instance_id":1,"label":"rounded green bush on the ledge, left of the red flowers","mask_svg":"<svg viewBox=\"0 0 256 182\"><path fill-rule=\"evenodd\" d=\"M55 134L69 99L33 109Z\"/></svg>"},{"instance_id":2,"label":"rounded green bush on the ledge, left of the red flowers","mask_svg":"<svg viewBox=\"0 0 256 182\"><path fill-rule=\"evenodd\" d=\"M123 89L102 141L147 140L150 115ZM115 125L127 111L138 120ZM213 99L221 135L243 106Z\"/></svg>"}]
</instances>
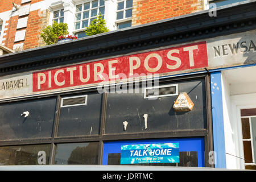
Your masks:
<instances>
[{"instance_id":1,"label":"rounded green bush on the ledge, left of the red flowers","mask_svg":"<svg viewBox=\"0 0 256 182\"><path fill-rule=\"evenodd\" d=\"M52 26L47 26L41 32L41 37L47 45L55 44L59 36L68 35L68 24L53 22Z\"/></svg>"}]
</instances>

